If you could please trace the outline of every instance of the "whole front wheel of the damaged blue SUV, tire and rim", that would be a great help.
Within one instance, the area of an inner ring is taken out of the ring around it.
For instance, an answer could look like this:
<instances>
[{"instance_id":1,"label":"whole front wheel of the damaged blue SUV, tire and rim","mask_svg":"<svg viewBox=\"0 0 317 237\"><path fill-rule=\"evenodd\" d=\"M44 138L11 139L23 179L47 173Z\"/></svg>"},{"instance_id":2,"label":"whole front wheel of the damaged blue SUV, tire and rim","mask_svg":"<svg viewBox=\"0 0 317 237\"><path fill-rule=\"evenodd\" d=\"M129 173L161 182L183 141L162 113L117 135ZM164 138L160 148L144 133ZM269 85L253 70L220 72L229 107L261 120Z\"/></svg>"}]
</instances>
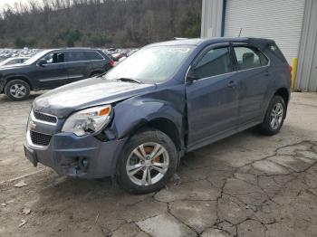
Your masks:
<instances>
[{"instance_id":1,"label":"whole front wheel of the damaged blue SUV, tire and rim","mask_svg":"<svg viewBox=\"0 0 317 237\"><path fill-rule=\"evenodd\" d=\"M146 156L142 156L142 145ZM151 156L154 154L159 156ZM148 194L164 187L177 166L178 151L168 135L159 130L143 130L123 147L116 180L130 194Z\"/></svg>"}]
</instances>

